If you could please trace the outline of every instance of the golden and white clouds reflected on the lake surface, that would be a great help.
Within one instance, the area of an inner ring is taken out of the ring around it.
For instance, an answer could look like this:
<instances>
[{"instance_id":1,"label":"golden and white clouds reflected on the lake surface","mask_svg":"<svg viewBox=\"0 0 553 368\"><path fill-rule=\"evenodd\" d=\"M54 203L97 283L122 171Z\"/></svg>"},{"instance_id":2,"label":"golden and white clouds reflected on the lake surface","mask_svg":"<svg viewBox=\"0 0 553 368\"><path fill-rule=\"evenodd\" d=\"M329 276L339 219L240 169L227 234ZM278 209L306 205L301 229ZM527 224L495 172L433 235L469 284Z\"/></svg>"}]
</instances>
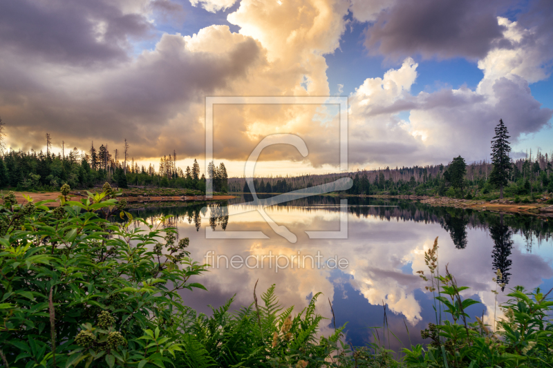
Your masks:
<instances>
[{"instance_id":1,"label":"golden and white clouds reflected on the lake surface","mask_svg":"<svg viewBox=\"0 0 553 368\"><path fill-rule=\"evenodd\" d=\"M213 251L214 253L210 254L215 254L215 257L226 255L227 258L232 258L233 255L239 255L242 259L249 255L256 255L259 257L258 259L261 259L262 255L269 255L269 251L272 252L272 255L285 255L288 259L298 254L314 256L319 251L323 262L335 255L337 259L348 260L348 267L341 270L345 273L344 279L346 280L337 279L335 270L328 269L328 267L319 269L310 267L309 258L307 258L304 268L298 268L296 263L293 269L281 269L279 272L275 272L274 263L272 263L272 268L269 268L268 258L265 258L263 268L252 269L246 267L241 269L225 268L225 260L221 258L218 268L210 268L207 278L197 280L207 287L209 293L199 291L196 296L198 291L194 291L194 298L185 298L187 305L191 307L203 308L200 310L205 311L205 304L208 302L217 307L236 292L238 294L235 308L240 305L250 305L253 302L254 285L259 280L256 289L258 298L260 293L270 285L277 284L279 302L283 307L294 305L295 312L299 312L307 306L306 296L322 292L323 296L319 297L319 302L317 302L318 312L326 318L332 318L327 298L335 305L337 299L341 298L344 293L344 283L349 282L356 291L362 294L368 304L382 306L382 302L384 302L390 311L404 316L411 325L417 325L418 322L424 320L423 307L428 308L427 320L424 322L431 322L431 318L433 318L431 293L424 291L424 287L429 283L419 278L416 271L424 270L428 275L428 267L424 263L424 251L427 251L433 245L435 237L439 236L440 267L449 264L449 271L456 277L458 284L471 288L463 293L463 297L470 297L474 293L478 293L480 300L487 307L487 318L491 319L494 316L495 300L494 294L490 290L496 288L496 283L491 280L494 277L494 270L492 269L493 259L489 256L492 253L494 242L482 226L468 226L468 246L465 249L457 249L450 234L439 222L434 222L428 213L418 213L419 219L415 221L416 216L413 217L413 213L409 209L373 208L368 211L368 215L352 215L351 213L348 215L348 240L344 240L344 244L347 246L340 246L341 240L314 240L309 239L304 233L306 230L337 229L339 212L332 209L332 206L307 210L300 209L295 205L270 207L268 215L279 225L286 226L294 234L297 234L298 244L301 246L294 246L275 235L258 213L232 215L233 211L235 209L232 206L229 207L231 215L227 231L231 227L233 231L263 231L270 239L227 239L225 242L206 240L203 227L196 232L191 227L194 224L189 225L181 218L178 228L181 235L184 233L190 238L189 251L194 260L209 262L216 266L217 258L206 260L207 251ZM355 210L352 209L352 211ZM366 212L361 211L361 213ZM391 217L386 217L384 213ZM207 216L209 213L206 213ZM396 219L401 222L402 231L397 231ZM423 219L424 221L422 221ZM207 218L204 217L203 221L207 222ZM193 230L190 231L190 229ZM221 231L221 229L217 229L217 231ZM533 289L542 284L542 279L553 276L547 251L534 249L532 253L528 253L525 251L526 242L522 235L515 235L513 240L514 248L509 257L512 260L512 269L510 270L512 276L509 287L523 284L527 289ZM201 244L201 246L194 244ZM487 256L485 256L486 254ZM281 262L281 265L284 263ZM250 260L249 264L250 267L254 267L254 260ZM411 264L411 273L402 271L406 264ZM529 269L534 269L536 272L528 272ZM443 273L444 269L440 269L440 272ZM426 306L422 305L424 300L421 301L420 291L429 296L430 302ZM419 294L418 298L415 298L415 293ZM185 295L190 296L188 292ZM506 299L505 293L500 293L498 296L498 302L504 302ZM339 316L337 309L335 312ZM378 314L374 318L375 320L379 318L382 322L382 314ZM371 320L366 320L364 323L369 326L373 325ZM420 327L425 328L426 326Z\"/></svg>"}]
</instances>

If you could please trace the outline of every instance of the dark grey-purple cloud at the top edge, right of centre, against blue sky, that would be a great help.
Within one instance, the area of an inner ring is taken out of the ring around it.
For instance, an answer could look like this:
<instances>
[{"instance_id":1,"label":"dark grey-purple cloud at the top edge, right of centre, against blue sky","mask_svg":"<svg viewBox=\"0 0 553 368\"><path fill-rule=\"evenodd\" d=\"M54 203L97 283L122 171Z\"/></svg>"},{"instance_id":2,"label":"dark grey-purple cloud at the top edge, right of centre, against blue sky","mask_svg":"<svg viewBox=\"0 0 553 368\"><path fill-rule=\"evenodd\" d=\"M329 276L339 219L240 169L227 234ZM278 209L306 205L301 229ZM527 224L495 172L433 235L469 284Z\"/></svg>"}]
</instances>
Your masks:
<instances>
[{"instance_id":1,"label":"dark grey-purple cloud at the top edge, right of centre, against blue sky","mask_svg":"<svg viewBox=\"0 0 553 368\"><path fill-rule=\"evenodd\" d=\"M366 30L365 46L386 57L484 57L501 43L497 1L402 0ZM505 43L505 42L503 42ZM505 43L507 45L507 43Z\"/></svg>"}]
</instances>

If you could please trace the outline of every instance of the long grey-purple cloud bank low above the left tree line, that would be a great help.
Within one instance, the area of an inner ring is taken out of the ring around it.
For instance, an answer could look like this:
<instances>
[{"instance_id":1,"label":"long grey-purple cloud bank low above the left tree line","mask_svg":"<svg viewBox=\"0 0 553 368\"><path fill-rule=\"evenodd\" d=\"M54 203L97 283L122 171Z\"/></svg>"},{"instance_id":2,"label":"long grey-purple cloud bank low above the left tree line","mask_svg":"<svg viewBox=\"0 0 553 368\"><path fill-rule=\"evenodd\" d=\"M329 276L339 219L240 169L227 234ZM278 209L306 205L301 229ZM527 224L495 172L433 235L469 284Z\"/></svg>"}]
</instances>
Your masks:
<instances>
[{"instance_id":1,"label":"long grey-purple cloud bank low above the left tree line","mask_svg":"<svg viewBox=\"0 0 553 368\"><path fill-rule=\"evenodd\" d=\"M73 83L59 88L50 86L44 73L26 76L27 66L9 63L0 68L0 116L9 124L12 142L24 149L40 147L48 131L57 142L80 147L90 139L115 147L126 138L136 148L135 157L158 155L167 146L177 154L198 155L204 151L202 114L190 113L189 107L245 75L259 57L261 49L251 38L214 55L190 52L183 37L164 35L153 52L84 79L78 73L68 76Z\"/></svg>"}]
</instances>

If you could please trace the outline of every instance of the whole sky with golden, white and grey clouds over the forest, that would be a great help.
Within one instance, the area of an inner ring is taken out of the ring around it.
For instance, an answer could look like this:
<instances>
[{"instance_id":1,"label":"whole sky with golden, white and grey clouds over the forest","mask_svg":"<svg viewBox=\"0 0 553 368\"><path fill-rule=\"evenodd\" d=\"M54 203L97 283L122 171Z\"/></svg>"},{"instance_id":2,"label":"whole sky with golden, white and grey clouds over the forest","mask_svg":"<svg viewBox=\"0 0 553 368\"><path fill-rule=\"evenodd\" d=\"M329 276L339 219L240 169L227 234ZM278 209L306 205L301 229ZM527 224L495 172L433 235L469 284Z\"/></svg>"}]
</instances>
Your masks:
<instances>
[{"instance_id":1,"label":"whole sky with golden, white and grey clouds over the forest","mask_svg":"<svg viewBox=\"0 0 553 368\"><path fill-rule=\"evenodd\" d=\"M204 166L205 97L348 97L348 166L489 159L503 119L514 157L553 150L553 2L20 0L0 3L6 146ZM330 105L216 105L214 159L243 175L339 171ZM157 166L157 165L156 165Z\"/></svg>"}]
</instances>

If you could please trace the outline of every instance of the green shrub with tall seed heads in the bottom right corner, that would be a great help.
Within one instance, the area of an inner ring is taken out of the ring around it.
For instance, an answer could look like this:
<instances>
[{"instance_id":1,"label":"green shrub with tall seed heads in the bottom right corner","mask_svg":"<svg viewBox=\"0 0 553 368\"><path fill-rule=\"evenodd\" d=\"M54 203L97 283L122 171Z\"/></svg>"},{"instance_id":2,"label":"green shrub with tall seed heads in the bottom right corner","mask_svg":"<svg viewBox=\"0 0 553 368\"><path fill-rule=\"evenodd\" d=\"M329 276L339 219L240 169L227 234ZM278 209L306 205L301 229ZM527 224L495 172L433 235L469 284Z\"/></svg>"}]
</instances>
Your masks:
<instances>
[{"instance_id":1,"label":"green shrub with tall seed heads in the bottom right corner","mask_svg":"<svg viewBox=\"0 0 553 368\"><path fill-rule=\"evenodd\" d=\"M485 325L476 317L475 322L467 322L467 308L478 304L476 300L462 299L460 292L469 289L459 287L446 266L446 275L439 275L438 238L434 246L425 252L429 265L429 278L424 271L418 271L424 280L431 280L427 290L437 293L435 311L440 309L451 315L451 320L444 319L436 313L436 323L421 331L422 338L432 341L426 349L422 345L403 349L404 362L408 367L545 367L553 363L551 341L553 325L551 313L553 302L547 300L547 294L538 288L529 293L523 287L515 287L507 294L511 299L500 305L505 319L494 322L493 326ZM498 269L492 279L499 287L503 275ZM497 288L497 287L496 287ZM496 295L497 289L492 290ZM495 306L494 306L495 307ZM494 316L494 320L495 320Z\"/></svg>"}]
</instances>

